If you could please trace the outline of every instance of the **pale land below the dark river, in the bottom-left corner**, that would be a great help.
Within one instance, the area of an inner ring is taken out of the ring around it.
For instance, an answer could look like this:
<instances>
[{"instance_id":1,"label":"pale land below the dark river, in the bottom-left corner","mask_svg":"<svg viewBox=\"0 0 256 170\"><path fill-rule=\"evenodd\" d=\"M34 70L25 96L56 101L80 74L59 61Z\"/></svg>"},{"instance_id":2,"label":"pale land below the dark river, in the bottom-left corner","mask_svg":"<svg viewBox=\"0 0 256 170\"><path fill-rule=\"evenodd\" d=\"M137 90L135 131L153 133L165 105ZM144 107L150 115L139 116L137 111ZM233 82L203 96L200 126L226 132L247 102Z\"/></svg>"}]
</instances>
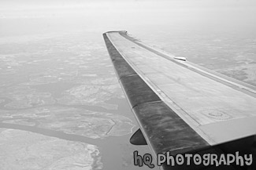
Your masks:
<instances>
[{"instance_id":1,"label":"pale land below the dark river, in the bottom-left corner","mask_svg":"<svg viewBox=\"0 0 256 170\"><path fill-rule=\"evenodd\" d=\"M1 169L100 169L98 147L39 135L17 129L0 128Z\"/></svg>"}]
</instances>

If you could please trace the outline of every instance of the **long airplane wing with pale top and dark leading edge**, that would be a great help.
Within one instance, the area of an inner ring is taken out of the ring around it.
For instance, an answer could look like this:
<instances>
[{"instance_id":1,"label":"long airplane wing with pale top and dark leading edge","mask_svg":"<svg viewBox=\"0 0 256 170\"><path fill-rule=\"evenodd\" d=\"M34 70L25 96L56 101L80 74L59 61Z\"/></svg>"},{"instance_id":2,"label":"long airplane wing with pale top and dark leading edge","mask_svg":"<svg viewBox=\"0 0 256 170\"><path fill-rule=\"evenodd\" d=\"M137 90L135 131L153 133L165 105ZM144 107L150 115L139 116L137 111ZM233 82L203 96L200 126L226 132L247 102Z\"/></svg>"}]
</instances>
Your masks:
<instances>
[{"instance_id":1,"label":"long airplane wing with pale top and dark leading edge","mask_svg":"<svg viewBox=\"0 0 256 170\"><path fill-rule=\"evenodd\" d=\"M176 155L253 150L253 85L144 45L127 31L109 31L103 38L118 80L155 157L168 151ZM229 168L240 167L224 169Z\"/></svg>"}]
</instances>

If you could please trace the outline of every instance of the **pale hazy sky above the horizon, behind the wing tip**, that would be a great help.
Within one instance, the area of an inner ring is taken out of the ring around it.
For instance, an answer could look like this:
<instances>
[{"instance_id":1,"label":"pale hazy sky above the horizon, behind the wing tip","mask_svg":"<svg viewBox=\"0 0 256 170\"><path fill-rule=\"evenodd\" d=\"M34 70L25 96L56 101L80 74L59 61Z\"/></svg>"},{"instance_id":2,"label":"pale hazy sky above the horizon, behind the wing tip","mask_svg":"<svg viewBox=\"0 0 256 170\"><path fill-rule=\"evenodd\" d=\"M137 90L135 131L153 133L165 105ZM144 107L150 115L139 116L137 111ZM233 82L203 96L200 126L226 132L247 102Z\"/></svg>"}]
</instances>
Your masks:
<instances>
[{"instance_id":1,"label":"pale hazy sky above the horizon, behind the wing tip","mask_svg":"<svg viewBox=\"0 0 256 170\"><path fill-rule=\"evenodd\" d=\"M2 0L0 32L136 30L150 27L254 30L254 0ZM12 19L12 20L6 20ZM23 20L24 19L24 20ZM30 20L31 19L31 20Z\"/></svg>"}]
</instances>

